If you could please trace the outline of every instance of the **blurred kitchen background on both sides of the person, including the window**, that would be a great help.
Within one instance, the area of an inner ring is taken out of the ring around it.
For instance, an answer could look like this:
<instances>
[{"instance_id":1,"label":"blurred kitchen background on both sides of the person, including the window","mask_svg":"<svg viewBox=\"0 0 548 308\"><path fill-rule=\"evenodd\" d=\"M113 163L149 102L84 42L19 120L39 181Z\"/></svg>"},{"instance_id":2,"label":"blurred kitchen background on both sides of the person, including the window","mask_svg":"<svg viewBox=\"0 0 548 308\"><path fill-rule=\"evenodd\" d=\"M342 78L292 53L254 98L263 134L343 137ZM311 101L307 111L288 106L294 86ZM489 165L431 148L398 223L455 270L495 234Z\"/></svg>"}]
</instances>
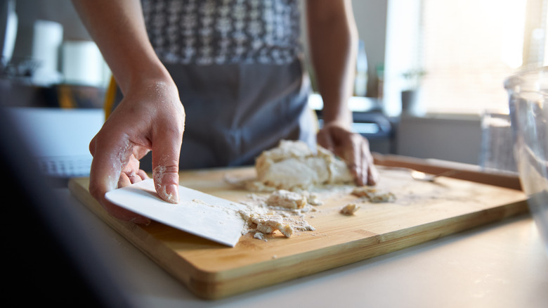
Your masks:
<instances>
[{"instance_id":1,"label":"blurred kitchen background on both sides of the person, including the window","mask_svg":"<svg viewBox=\"0 0 548 308\"><path fill-rule=\"evenodd\" d=\"M86 176L110 71L69 0L0 0L0 105L41 168ZM353 0L355 131L371 149L514 170L504 79L548 65L548 0ZM313 79L313 75L311 75ZM311 107L321 120L321 98ZM493 150L496 148L495 150Z\"/></svg>"}]
</instances>

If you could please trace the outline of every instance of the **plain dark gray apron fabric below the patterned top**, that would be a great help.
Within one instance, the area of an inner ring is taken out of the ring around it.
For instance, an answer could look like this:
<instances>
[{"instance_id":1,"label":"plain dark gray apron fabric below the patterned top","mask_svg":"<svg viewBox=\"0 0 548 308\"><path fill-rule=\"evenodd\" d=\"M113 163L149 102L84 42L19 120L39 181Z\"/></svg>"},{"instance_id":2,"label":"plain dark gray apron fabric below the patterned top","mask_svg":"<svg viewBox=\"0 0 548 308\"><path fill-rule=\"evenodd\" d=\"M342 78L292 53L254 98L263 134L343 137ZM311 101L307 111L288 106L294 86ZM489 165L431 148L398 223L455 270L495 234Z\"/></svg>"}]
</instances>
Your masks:
<instances>
[{"instance_id":1,"label":"plain dark gray apron fabric below the patterned top","mask_svg":"<svg viewBox=\"0 0 548 308\"><path fill-rule=\"evenodd\" d=\"M288 65L167 65L185 107L181 169L252 165L280 139L315 144L310 86Z\"/></svg>"}]
</instances>

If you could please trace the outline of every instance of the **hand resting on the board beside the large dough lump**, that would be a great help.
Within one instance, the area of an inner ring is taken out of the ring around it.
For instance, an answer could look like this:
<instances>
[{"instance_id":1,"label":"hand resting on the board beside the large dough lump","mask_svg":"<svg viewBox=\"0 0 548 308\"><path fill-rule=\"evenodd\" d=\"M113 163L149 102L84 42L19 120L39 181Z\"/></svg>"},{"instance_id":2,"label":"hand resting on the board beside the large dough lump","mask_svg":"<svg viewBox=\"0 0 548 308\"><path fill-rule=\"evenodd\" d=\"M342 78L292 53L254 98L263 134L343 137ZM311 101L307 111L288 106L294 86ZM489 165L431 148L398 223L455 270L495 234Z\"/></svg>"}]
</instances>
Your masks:
<instances>
[{"instance_id":1,"label":"hand resting on the board beside the large dough lump","mask_svg":"<svg viewBox=\"0 0 548 308\"><path fill-rule=\"evenodd\" d=\"M375 185L379 172L373 164L369 142L360 134L330 123L318 131L318 144L342 158L352 172L356 184Z\"/></svg>"}]
</instances>

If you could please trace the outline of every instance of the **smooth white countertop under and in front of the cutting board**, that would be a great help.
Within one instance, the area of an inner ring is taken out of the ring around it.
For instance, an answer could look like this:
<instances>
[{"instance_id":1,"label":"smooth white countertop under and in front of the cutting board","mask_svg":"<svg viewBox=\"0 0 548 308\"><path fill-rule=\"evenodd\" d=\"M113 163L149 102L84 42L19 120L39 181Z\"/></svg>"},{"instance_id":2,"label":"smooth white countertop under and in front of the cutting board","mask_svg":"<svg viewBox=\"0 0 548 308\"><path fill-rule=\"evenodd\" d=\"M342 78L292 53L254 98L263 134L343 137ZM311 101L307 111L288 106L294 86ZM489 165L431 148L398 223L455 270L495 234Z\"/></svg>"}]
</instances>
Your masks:
<instances>
[{"instance_id":1,"label":"smooth white countertop under and in front of the cutting board","mask_svg":"<svg viewBox=\"0 0 548 308\"><path fill-rule=\"evenodd\" d=\"M182 283L76 200L138 307L547 307L548 253L528 214L223 300Z\"/></svg>"}]
</instances>

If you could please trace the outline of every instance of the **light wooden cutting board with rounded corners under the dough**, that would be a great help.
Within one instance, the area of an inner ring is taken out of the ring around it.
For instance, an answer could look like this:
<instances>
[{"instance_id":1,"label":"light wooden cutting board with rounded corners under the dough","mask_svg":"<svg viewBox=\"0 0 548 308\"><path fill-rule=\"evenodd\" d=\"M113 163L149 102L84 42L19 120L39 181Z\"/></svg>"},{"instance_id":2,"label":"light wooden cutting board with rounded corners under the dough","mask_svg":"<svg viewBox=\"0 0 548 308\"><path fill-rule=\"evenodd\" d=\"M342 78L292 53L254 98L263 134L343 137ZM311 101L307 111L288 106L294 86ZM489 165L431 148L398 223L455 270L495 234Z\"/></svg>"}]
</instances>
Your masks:
<instances>
[{"instance_id":1,"label":"light wooden cutting board with rounded corners under the dough","mask_svg":"<svg viewBox=\"0 0 548 308\"><path fill-rule=\"evenodd\" d=\"M378 187L393 203L359 203L353 216L339 213L360 201L344 190L321 193L323 204L305 214L315 231L266 240L242 236L235 248L152 222L138 226L110 217L88 191L89 179L72 179L70 191L113 229L184 283L195 295L218 299L383 255L474 226L526 212L516 189L441 177L411 179L405 169L381 167ZM261 195L231 186L225 177L254 177L251 167L181 172L181 185L236 202ZM496 179L496 177L494 178Z\"/></svg>"}]
</instances>

